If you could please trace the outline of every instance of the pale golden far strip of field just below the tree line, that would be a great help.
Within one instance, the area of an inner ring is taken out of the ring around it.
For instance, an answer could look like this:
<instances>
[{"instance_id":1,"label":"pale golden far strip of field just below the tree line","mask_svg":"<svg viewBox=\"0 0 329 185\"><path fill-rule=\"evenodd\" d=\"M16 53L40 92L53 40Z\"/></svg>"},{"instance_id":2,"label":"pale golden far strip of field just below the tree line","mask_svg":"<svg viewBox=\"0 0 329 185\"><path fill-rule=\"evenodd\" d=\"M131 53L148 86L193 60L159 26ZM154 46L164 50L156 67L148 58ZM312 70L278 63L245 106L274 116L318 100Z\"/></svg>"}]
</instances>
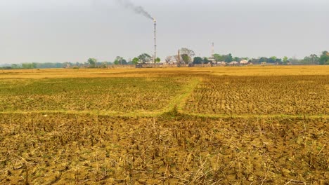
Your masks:
<instances>
[{"instance_id":1,"label":"pale golden far strip of field just below the tree line","mask_svg":"<svg viewBox=\"0 0 329 185\"><path fill-rule=\"evenodd\" d=\"M329 66L247 66L247 67L191 67L148 69L16 69L0 71L2 78L105 78L159 77L190 75L218 76L299 76L329 75Z\"/></svg>"}]
</instances>

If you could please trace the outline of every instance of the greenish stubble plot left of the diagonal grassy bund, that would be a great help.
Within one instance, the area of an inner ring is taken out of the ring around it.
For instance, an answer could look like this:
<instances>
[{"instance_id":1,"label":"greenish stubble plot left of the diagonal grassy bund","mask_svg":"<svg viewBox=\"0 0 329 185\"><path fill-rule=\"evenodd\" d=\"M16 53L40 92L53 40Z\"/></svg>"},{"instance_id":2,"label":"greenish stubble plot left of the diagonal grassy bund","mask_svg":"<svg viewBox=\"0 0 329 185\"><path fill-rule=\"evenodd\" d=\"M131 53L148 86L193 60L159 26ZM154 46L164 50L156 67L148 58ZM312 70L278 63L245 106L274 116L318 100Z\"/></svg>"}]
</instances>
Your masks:
<instances>
[{"instance_id":1,"label":"greenish stubble plot left of the diagonal grassy bund","mask_svg":"<svg viewBox=\"0 0 329 185\"><path fill-rule=\"evenodd\" d=\"M161 111L190 82L160 77L2 79L0 111Z\"/></svg>"}]
</instances>

